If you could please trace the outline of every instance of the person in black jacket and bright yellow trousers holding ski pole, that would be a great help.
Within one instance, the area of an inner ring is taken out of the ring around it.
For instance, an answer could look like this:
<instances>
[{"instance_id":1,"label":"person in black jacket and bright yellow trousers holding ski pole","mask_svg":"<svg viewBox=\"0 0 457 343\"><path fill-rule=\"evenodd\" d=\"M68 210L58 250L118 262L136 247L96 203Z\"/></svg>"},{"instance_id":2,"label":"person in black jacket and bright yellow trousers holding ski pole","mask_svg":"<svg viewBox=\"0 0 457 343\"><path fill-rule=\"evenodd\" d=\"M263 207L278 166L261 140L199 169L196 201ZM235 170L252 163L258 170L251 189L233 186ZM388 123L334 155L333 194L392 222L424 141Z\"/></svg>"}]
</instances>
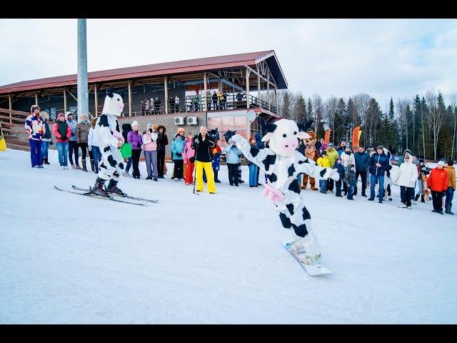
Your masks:
<instances>
[{"instance_id":1,"label":"person in black jacket and bright yellow trousers holding ski pole","mask_svg":"<svg viewBox=\"0 0 457 343\"><path fill-rule=\"evenodd\" d=\"M196 192L203 192L203 170L205 169L206 178L208 179L209 194L216 194L216 183L214 182L214 172L211 166L210 149L214 148L216 143L209 137L206 126L200 126L200 133L194 136L191 144L195 149L195 182Z\"/></svg>"}]
</instances>

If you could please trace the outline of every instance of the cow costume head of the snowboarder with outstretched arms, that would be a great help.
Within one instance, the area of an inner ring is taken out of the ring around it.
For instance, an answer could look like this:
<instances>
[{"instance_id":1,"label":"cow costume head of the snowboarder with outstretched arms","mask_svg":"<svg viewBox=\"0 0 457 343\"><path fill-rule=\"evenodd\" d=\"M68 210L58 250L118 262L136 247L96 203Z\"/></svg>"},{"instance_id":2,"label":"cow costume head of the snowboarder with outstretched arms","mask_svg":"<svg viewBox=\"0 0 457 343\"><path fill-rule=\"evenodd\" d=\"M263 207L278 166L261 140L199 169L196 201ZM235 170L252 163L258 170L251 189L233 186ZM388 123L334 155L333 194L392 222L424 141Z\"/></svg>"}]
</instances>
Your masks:
<instances>
[{"instance_id":1,"label":"cow costume head of the snowboarder with outstretched arms","mask_svg":"<svg viewBox=\"0 0 457 343\"><path fill-rule=\"evenodd\" d=\"M302 124L296 124L293 120L280 119L274 124L266 124L262 120L263 132L266 134L262 141L268 141L269 148L275 154L291 157L295 154L298 139L308 139L310 136L304 130Z\"/></svg>"}]
</instances>

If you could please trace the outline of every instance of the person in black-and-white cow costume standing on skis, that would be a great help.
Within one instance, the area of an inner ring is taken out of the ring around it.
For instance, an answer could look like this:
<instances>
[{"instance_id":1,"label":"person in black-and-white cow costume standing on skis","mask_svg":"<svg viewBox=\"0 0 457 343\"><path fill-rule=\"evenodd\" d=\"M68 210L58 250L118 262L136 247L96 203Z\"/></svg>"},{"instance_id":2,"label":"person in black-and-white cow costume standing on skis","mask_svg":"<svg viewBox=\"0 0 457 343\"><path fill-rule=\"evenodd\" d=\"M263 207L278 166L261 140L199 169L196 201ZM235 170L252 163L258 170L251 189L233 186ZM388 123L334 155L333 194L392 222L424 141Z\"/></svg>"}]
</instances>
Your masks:
<instances>
[{"instance_id":1,"label":"person in black-and-white cow costume standing on skis","mask_svg":"<svg viewBox=\"0 0 457 343\"><path fill-rule=\"evenodd\" d=\"M124 144L124 137L121 134L121 127L117 117L122 114L124 101L119 94L108 91L103 106L103 111L96 121L95 131L99 141L101 152L101 163L99 174L91 192L107 197L109 193L124 194L117 187L119 175L124 170L124 158L119 148ZM104 184L109 181L108 187Z\"/></svg>"}]
</instances>

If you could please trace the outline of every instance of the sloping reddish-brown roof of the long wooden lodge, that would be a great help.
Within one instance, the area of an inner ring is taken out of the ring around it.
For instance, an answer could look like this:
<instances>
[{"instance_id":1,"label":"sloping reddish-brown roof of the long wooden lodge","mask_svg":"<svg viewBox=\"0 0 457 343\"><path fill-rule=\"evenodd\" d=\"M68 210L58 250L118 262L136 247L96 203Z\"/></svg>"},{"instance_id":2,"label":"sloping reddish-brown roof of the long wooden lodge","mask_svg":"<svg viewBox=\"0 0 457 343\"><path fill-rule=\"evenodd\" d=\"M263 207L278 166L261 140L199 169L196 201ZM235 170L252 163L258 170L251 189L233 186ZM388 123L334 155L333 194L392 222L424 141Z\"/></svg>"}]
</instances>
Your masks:
<instances>
[{"instance_id":1,"label":"sloping reddish-brown roof of the long wooden lodge","mask_svg":"<svg viewBox=\"0 0 457 343\"><path fill-rule=\"evenodd\" d=\"M245 65L253 65L266 60L278 89L286 89L287 81L279 66L274 50L249 52L247 54L234 54L226 56L206 57L203 59L187 59L184 61L148 64L146 66L129 66L127 68L91 71L88 73L89 84L101 81L115 81L134 79L145 76L159 76L179 74L190 71L204 71L209 69L224 69ZM46 77L29 81L16 82L0 86L0 94L20 91L48 89L77 84L77 74Z\"/></svg>"}]
</instances>

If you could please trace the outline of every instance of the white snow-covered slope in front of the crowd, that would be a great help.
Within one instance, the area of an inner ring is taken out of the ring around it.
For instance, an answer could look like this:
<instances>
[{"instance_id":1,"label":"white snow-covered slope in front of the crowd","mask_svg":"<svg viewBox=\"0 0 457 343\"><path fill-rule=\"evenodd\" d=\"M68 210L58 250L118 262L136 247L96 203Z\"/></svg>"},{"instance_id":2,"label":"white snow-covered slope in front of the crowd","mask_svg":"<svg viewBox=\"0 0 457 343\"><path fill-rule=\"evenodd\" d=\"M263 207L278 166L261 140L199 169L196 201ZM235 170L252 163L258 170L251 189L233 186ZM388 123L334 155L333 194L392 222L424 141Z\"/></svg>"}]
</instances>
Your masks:
<instances>
[{"instance_id":1,"label":"white snow-covered slope in front of the crowd","mask_svg":"<svg viewBox=\"0 0 457 343\"><path fill-rule=\"evenodd\" d=\"M95 176L49 160L31 169L28 152L0 153L1 324L457 322L457 216L398 209L397 186L384 204L304 191L334 273L309 277L246 166L240 187L221 166L216 195L121 177L124 192L159 199L136 207L56 191Z\"/></svg>"}]
</instances>

